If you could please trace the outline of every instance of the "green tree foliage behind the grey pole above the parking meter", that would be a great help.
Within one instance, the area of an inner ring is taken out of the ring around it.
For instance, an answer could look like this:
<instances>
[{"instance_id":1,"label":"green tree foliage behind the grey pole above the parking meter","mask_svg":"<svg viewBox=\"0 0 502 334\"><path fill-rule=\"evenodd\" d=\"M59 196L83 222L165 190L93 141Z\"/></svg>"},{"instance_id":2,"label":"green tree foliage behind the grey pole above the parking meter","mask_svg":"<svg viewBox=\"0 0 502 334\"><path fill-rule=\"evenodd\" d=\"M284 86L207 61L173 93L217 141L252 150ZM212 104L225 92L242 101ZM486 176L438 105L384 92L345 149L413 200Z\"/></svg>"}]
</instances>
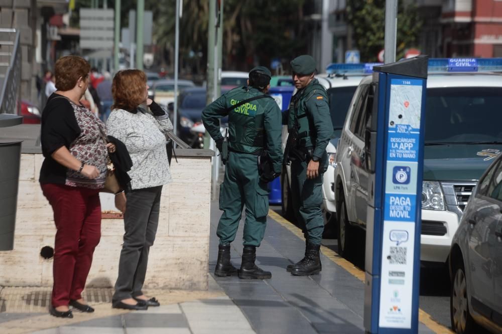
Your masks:
<instances>
[{"instance_id":1,"label":"green tree foliage behind the grey pole above the parking meter","mask_svg":"<svg viewBox=\"0 0 502 334\"><path fill-rule=\"evenodd\" d=\"M404 57L407 49L417 46L422 28L417 6L403 3L403 0L398 1L396 59ZM378 53L384 48L385 0L347 0L346 12L361 61L377 61Z\"/></svg>"}]
</instances>

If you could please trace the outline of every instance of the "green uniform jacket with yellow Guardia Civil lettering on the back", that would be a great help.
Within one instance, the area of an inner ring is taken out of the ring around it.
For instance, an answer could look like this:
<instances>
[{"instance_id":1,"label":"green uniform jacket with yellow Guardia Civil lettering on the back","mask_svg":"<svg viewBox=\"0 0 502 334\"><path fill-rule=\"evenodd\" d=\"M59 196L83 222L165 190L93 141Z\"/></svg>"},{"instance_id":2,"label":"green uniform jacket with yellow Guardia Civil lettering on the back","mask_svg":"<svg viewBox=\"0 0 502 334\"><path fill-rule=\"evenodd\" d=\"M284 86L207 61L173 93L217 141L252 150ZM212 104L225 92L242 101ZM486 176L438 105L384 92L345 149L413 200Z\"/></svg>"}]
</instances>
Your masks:
<instances>
[{"instance_id":1,"label":"green uniform jacket with yellow Guardia Civil lettering on the back","mask_svg":"<svg viewBox=\"0 0 502 334\"><path fill-rule=\"evenodd\" d=\"M269 152L274 172L281 173L281 110L273 98L262 98L233 108L226 108L254 96L263 95L253 87L237 87L202 111L202 122L211 137L222 139L219 119L228 115L229 146L234 151L255 153L261 149Z\"/></svg>"}]
</instances>

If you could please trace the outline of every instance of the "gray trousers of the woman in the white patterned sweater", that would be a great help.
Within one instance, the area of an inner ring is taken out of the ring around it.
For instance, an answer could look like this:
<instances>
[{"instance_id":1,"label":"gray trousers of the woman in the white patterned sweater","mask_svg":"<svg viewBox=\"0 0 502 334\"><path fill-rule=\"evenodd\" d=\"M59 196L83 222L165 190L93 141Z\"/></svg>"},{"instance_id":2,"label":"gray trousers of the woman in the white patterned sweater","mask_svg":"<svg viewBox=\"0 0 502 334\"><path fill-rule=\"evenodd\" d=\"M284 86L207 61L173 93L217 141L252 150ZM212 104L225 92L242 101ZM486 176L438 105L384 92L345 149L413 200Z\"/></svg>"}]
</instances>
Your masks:
<instances>
[{"instance_id":1,"label":"gray trousers of the woman in the white patterned sweater","mask_svg":"<svg viewBox=\"0 0 502 334\"><path fill-rule=\"evenodd\" d=\"M147 273L148 253L159 225L162 186L129 192L124 213L122 251L112 302L141 296Z\"/></svg>"}]
</instances>

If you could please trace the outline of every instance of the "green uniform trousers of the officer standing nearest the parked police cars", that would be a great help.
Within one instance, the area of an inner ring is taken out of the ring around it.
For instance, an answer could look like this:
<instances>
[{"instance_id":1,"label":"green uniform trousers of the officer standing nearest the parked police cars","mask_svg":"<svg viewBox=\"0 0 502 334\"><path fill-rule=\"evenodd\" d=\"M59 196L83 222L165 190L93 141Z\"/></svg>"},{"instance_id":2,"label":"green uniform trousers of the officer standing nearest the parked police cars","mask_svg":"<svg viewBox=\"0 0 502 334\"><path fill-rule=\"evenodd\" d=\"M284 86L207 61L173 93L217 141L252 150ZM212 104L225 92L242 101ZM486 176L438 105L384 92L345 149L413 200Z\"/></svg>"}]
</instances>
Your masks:
<instances>
[{"instance_id":1,"label":"green uniform trousers of the officer standing nearest the parked police cars","mask_svg":"<svg viewBox=\"0 0 502 334\"><path fill-rule=\"evenodd\" d=\"M321 162L322 163L322 162ZM291 162L291 200L295 216L305 239L314 245L320 245L324 231L322 218L322 176L307 179L307 162Z\"/></svg>"}]
</instances>

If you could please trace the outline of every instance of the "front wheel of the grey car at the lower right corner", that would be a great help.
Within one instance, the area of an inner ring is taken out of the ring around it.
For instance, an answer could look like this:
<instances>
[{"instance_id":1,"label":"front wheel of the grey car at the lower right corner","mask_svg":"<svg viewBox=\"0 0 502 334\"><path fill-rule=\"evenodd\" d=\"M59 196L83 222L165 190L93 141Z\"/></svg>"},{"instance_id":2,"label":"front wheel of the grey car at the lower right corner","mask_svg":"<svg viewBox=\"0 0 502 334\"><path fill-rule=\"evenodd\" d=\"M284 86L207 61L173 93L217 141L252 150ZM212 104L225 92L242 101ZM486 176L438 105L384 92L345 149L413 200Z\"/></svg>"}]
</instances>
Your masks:
<instances>
[{"instance_id":1,"label":"front wheel of the grey car at the lower right corner","mask_svg":"<svg viewBox=\"0 0 502 334\"><path fill-rule=\"evenodd\" d=\"M458 334L470 333L477 326L469 313L467 279L462 259L456 261L453 272L450 290L451 328Z\"/></svg>"}]
</instances>

